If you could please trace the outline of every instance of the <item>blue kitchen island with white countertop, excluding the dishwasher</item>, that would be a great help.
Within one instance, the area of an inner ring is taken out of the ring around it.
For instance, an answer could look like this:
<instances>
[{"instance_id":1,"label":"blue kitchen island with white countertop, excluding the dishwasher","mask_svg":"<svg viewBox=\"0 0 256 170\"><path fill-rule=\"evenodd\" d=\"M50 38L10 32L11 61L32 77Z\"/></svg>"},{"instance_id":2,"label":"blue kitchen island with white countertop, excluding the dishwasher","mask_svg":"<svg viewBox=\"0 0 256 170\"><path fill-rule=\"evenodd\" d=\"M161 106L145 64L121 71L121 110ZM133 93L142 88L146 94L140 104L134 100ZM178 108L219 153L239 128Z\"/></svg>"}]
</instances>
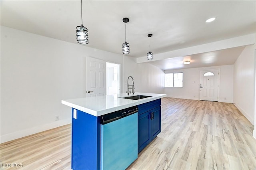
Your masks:
<instances>
[{"instance_id":1,"label":"blue kitchen island with white countertop, excluding the dishwasher","mask_svg":"<svg viewBox=\"0 0 256 170\"><path fill-rule=\"evenodd\" d=\"M101 118L104 115L127 108L138 107L138 145L140 152L160 133L160 99L164 94L134 93L149 96L143 99L124 99L126 93L79 99L62 100L62 104L72 107L72 162L76 169L104 169L101 151ZM130 117L130 116L129 116ZM121 119L122 120L122 119ZM134 124L134 123L133 123ZM136 124L136 123L135 123Z\"/></svg>"}]
</instances>

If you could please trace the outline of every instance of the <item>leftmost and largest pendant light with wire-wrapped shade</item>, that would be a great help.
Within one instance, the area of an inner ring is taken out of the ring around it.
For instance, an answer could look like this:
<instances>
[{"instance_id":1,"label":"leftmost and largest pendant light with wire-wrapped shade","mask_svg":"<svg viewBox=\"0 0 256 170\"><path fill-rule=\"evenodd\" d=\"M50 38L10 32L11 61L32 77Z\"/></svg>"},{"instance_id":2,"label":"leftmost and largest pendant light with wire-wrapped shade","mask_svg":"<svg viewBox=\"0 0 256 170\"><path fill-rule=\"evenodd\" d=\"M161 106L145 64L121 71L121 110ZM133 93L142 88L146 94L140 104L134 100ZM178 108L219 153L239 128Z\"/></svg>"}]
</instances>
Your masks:
<instances>
[{"instance_id":1,"label":"leftmost and largest pendant light with wire-wrapped shade","mask_svg":"<svg viewBox=\"0 0 256 170\"><path fill-rule=\"evenodd\" d=\"M82 25L76 27L76 41L81 44L88 44L88 30L83 26L82 0L81 0L81 20Z\"/></svg>"}]
</instances>

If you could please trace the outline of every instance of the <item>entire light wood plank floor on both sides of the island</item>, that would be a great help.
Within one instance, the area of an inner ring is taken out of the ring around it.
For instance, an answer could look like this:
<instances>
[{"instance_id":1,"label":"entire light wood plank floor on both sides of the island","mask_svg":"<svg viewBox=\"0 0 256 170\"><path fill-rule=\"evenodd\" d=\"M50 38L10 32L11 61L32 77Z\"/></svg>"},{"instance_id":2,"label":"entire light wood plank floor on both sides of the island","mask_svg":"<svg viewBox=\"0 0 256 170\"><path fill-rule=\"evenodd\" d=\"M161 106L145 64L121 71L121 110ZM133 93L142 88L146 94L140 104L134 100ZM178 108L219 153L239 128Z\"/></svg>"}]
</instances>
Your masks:
<instances>
[{"instance_id":1,"label":"entire light wood plank floor on both sides of the island","mask_svg":"<svg viewBox=\"0 0 256 170\"><path fill-rule=\"evenodd\" d=\"M230 103L162 99L162 132L129 170L256 169L253 125ZM17 169L70 169L71 126L1 144L3 164Z\"/></svg>"}]
</instances>

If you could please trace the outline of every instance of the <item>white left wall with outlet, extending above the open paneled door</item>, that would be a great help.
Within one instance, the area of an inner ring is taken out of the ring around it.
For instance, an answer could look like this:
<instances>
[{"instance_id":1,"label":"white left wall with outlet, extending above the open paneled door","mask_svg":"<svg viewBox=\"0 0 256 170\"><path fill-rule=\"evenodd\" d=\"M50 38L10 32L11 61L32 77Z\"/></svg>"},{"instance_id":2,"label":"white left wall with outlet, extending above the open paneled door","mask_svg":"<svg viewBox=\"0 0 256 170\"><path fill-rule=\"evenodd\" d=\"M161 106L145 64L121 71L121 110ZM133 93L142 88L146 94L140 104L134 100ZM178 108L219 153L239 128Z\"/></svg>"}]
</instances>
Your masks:
<instances>
[{"instance_id":1,"label":"white left wall with outlet, extending above the open paneled door","mask_svg":"<svg viewBox=\"0 0 256 170\"><path fill-rule=\"evenodd\" d=\"M1 143L71 123L61 100L86 97L87 56L122 67L120 54L1 26Z\"/></svg>"}]
</instances>

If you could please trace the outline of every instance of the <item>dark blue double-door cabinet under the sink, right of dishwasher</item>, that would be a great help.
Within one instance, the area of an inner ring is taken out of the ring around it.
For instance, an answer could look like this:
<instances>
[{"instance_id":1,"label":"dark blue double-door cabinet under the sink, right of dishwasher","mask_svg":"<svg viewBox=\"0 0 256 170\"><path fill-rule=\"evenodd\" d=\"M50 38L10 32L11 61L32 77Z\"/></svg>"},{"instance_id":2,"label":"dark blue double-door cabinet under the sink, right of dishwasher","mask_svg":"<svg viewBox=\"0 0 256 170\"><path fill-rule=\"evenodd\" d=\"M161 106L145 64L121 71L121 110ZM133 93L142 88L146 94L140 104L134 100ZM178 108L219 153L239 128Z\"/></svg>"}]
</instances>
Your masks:
<instances>
[{"instance_id":1,"label":"dark blue double-door cabinet under the sink, right of dishwasher","mask_svg":"<svg viewBox=\"0 0 256 170\"><path fill-rule=\"evenodd\" d=\"M138 105L138 153L161 132L161 99Z\"/></svg>"}]
</instances>

